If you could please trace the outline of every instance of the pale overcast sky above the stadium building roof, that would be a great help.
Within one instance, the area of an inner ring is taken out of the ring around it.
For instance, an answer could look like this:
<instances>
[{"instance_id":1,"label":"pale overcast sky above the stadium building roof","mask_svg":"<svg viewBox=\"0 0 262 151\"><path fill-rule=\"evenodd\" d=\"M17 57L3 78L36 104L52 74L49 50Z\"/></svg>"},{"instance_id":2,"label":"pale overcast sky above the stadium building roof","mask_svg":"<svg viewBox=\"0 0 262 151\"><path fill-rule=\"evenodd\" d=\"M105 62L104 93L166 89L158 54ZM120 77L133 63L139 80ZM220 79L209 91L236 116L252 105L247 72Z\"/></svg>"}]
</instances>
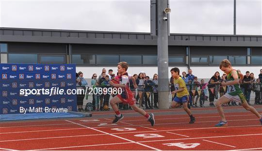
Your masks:
<instances>
[{"instance_id":1,"label":"pale overcast sky above the stadium building roof","mask_svg":"<svg viewBox=\"0 0 262 151\"><path fill-rule=\"evenodd\" d=\"M262 35L262 0L237 0L236 33ZM170 0L171 33L233 34L233 0ZM150 0L0 0L0 27L150 32Z\"/></svg>"}]
</instances>

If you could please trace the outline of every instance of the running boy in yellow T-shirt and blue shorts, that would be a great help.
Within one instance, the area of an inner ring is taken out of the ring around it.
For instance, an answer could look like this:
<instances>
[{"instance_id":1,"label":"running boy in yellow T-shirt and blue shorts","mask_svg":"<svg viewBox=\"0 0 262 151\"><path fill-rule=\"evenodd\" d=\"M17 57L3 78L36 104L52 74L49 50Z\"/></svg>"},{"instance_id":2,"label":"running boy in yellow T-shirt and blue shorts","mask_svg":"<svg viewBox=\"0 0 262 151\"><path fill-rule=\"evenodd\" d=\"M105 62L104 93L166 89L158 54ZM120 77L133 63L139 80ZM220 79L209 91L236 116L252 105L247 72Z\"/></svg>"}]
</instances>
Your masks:
<instances>
[{"instance_id":1,"label":"running boy in yellow T-shirt and blue shorts","mask_svg":"<svg viewBox=\"0 0 262 151\"><path fill-rule=\"evenodd\" d=\"M183 108L190 117L189 123L194 123L196 121L195 117L192 115L191 110L187 107L190 100L189 92L186 89L185 81L179 76L179 68L172 68L170 70L171 75L174 79L175 91L172 91L172 94L177 94L174 100L171 103L171 107L179 107L180 104L183 104Z\"/></svg>"}]
</instances>

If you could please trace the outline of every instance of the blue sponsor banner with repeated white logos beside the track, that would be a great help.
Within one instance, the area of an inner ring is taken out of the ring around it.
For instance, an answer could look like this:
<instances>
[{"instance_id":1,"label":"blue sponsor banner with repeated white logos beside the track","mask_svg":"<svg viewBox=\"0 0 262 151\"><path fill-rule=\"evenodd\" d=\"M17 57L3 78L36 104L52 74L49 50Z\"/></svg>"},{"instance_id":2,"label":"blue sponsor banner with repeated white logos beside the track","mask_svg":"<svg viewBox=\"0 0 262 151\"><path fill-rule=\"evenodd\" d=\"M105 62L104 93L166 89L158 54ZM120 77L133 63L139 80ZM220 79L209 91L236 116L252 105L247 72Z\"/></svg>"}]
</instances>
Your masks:
<instances>
[{"instance_id":1,"label":"blue sponsor banner with repeated white logos beside the track","mask_svg":"<svg viewBox=\"0 0 262 151\"><path fill-rule=\"evenodd\" d=\"M75 64L1 63L0 71L0 114L20 113L20 107L77 111L76 95L67 94L68 89L76 89ZM23 89L41 91L25 96L20 94ZM62 89L64 93L58 94ZM52 95L43 94L47 91Z\"/></svg>"}]
</instances>

